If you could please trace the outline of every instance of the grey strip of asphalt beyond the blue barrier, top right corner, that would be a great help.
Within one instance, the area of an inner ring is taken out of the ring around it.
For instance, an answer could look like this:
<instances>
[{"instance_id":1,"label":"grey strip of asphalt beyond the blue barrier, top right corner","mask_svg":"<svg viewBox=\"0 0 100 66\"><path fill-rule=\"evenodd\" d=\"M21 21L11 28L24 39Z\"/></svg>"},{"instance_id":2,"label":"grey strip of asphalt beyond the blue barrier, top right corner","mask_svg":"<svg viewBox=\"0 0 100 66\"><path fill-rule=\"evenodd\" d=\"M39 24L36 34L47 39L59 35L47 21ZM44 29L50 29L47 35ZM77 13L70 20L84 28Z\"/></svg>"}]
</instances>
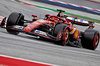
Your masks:
<instances>
[{"instance_id":1,"label":"grey strip of asphalt beyond the blue barrier, top right corner","mask_svg":"<svg viewBox=\"0 0 100 66\"><path fill-rule=\"evenodd\" d=\"M67 3L72 3L80 6L87 6L95 9L100 9L100 4L86 1L86 0L59 0Z\"/></svg>"}]
</instances>

